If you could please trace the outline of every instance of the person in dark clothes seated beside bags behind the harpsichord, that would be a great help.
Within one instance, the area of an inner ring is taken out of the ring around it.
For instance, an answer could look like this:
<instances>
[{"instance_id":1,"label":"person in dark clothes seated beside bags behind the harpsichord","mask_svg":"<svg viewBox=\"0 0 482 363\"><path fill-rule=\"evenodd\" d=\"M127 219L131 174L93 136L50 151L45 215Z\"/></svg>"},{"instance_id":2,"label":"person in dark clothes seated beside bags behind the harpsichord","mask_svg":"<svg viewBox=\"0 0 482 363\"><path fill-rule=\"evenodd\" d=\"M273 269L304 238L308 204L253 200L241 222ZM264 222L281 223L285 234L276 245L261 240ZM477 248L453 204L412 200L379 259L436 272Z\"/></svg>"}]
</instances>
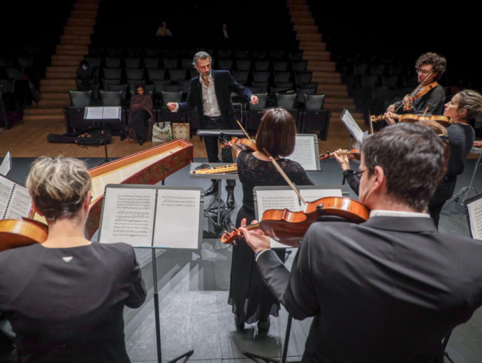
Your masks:
<instances>
[{"instance_id":1,"label":"person in dark clothes seated beside bags behind the harpsichord","mask_svg":"<svg viewBox=\"0 0 482 363\"><path fill-rule=\"evenodd\" d=\"M131 112L127 119L129 126L129 136L134 140L139 140L139 145L152 138L152 126L154 116L152 115L152 98L144 89L142 84L136 86L137 94L131 97Z\"/></svg>"}]
</instances>

